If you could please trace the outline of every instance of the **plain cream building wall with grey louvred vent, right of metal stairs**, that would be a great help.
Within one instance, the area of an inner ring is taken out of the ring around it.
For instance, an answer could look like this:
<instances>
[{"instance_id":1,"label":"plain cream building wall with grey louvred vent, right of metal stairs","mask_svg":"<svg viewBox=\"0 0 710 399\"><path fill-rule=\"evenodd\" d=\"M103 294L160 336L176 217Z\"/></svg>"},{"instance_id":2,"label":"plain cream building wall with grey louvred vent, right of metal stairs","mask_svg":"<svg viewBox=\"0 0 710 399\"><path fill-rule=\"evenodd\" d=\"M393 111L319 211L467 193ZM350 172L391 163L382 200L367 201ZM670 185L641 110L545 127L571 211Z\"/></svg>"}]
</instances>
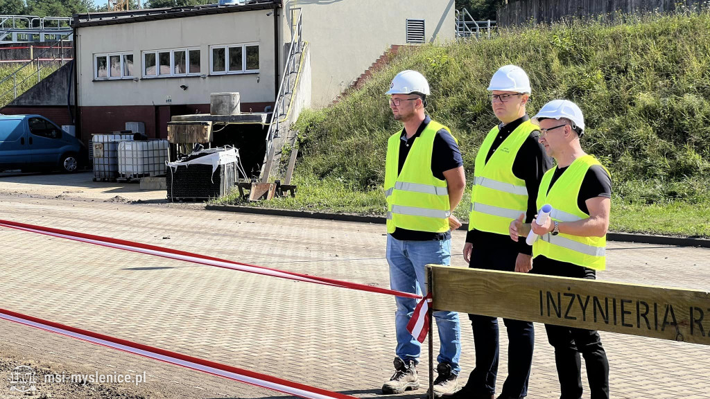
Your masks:
<instances>
[{"instance_id":1,"label":"plain cream building wall with grey louvred vent, right of metal stairs","mask_svg":"<svg viewBox=\"0 0 710 399\"><path fill-rule=\"evenodd\" d=\"M391 45L406 44L408 18L425 20L430 43L455 36L454 0L284 0L289 42L294 7L302 9L302 36L311 44L313 106L330 104Z\"/></svg>"}]
</instances>

